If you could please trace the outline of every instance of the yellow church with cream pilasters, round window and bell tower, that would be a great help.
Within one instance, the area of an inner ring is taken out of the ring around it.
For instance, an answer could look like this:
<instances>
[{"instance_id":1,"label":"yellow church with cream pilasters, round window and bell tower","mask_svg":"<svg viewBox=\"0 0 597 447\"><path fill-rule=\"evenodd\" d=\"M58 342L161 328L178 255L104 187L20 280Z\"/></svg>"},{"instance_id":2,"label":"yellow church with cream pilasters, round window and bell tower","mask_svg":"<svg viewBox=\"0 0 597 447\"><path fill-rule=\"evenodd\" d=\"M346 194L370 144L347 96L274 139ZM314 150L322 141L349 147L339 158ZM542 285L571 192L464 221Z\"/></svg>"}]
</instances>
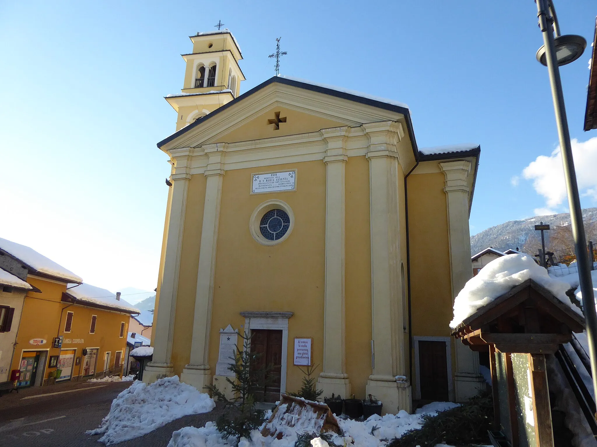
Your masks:
<instances>
[{"instance_id":1,"label":"yellow church with cream pilasters, round window and bell tower","mask_svg":"<svg viewBox=\"0 0 597 447\"><path fill-rule=\"evenodd\" d=\"M406 105L331 86L275 76L238 95L239 51L217 62L236 85L189 91L205 48L236 42L191 39L183 95L167 97L177 132L158 144L172 186L144 380L224 383L236 331L276 367L264 400L298 390L305 363L323 396L371 394L384 412L475 395L477 354L448 322L472 276L479 147L422 153Z\"/></svg>"}]
</instances>

